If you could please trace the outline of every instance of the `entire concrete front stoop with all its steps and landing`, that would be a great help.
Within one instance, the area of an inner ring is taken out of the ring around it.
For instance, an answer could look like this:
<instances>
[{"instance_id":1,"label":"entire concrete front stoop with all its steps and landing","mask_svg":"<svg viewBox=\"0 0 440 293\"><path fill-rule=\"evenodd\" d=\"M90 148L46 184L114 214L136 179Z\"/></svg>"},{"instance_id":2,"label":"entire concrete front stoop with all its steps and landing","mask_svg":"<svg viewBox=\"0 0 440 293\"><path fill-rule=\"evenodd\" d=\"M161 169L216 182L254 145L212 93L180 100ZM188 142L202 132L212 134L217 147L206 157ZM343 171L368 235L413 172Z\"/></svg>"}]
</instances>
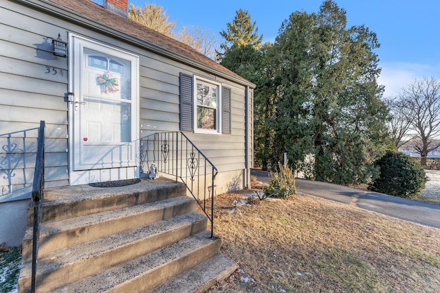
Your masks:
<instances>
[{"instance_id":1,"label":"entire concrete front stoop with all its steps and landing","mask_svg":"<svg viewBox=\"0 0 440 293\"><path fill-rule=\"evenodd\" d=\"M185 193L166 179L46 189L36 292L203 292L225 279L236 263ZM32 212L19 293L30 292Z\"/></svg>"}]
</instances>

